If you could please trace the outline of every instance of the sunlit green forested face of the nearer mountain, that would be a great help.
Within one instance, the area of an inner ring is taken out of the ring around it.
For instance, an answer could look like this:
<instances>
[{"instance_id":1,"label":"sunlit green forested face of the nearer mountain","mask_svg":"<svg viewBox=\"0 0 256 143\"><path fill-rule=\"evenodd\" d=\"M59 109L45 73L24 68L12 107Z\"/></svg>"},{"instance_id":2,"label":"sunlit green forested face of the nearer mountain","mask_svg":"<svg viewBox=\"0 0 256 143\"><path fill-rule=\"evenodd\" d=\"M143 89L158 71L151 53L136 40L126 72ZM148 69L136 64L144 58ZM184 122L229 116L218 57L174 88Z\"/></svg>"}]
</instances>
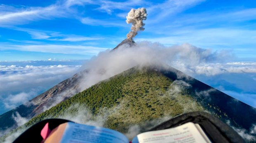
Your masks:
<instances>
[{"instance_id":1,"label":"sunlit green forested face of the nearer mountain","mask_svg":"<svg viewBox=\"0 0 256 143\"><path fill-rule=\"evenodd\" d=\"M171 79L153 69L132 68L57 104L31 119L25 126L46 118L74 114L77 109L69 108L74 104L86 106L92 115L97 115L101 108L119 106L116 112L108 116L104 126L122 132L135 123L184 113L184 104L192 107L190 111L203 110L185 91L174 94L173 86Z\"/></svg>"}]
</instances>

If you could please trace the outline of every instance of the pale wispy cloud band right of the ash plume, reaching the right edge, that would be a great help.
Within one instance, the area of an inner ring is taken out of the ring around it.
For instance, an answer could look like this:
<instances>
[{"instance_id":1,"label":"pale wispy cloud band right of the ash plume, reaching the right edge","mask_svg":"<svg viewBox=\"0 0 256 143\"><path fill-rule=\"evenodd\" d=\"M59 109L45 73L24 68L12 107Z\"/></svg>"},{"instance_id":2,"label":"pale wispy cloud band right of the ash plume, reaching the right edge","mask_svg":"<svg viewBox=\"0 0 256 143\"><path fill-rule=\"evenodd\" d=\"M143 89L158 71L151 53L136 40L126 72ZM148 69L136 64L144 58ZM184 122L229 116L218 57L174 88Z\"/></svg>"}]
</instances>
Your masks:
<instances>
[{"instance_id":1,"label":"pale wispy cloud band right of the ash plume, reaching the right edge","mask_svg":"<svg viewBox=\"0 0 256 143\"><path fill-rule=\"evenodd\" d=\"M159 30L160 32L161 30ZM173 45L190 43L201 47L211 48L234 48L234 46L256 44L256 30L243 30L233 28L183 28L173 30L167 33L162 30L160 33L165 34L163 37L139 38L138 41L148 40L151 42L160 42L161 44ZM240 35L243 35L242 37ZM213 47L214 46L214 47Z\"/></svg>"}]
</instances>

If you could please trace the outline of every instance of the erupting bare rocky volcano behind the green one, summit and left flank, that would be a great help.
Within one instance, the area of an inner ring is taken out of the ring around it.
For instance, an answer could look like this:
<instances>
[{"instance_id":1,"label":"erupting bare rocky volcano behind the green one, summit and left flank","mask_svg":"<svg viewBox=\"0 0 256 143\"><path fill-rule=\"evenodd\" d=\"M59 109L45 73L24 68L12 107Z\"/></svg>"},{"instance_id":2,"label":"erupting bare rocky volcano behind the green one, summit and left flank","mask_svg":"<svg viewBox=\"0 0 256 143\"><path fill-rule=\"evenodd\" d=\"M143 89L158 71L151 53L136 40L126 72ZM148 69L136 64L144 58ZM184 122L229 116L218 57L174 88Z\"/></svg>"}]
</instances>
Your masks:
<instances>
[{"instance_id":1,"label":"erupting bare rocky volcano behind the green one, summit and left flank","mask_svg":"<svg viewBox=\"0 0 256 143\"><path fill-rule=\"evenodd\" d=\"M125 48L131 47L135 45L133 39L124 39L120 44L118 44L115 48L111 51L116 50L120 46L124 45ZM72 77L67 78L66 80L58 83L57 85L53 86L49 90L43 92L42 94L34 97L33 99L29 100L28 102L17 106L16 108L7 111L0 115L0 130L7 129L9 127L16 128L15 121L13 119L13 115L17 116L17 113L21 115L22 118L33 118L36 115L42 113L45 108L44 106L52 106L51 103L56 100L59 94L65 93L62 95L63 100L75 95L79 92L78 90L78 79L81 76L88 72L87 70L80 71L77 74L74 74ZM66 93L69 91L70 93Z\"/></svg>"}]
</instances>

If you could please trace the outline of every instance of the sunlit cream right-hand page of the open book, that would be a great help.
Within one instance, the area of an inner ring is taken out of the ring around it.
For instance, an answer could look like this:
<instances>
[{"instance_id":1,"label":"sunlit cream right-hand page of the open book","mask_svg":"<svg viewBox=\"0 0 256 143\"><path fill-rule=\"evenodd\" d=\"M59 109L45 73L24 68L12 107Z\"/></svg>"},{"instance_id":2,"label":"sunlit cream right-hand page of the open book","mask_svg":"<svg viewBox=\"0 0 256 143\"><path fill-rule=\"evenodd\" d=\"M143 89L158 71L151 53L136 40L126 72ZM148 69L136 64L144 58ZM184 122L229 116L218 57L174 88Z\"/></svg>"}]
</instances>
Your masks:
<instances>
[{"instance_id":1,"label":"sunlit cream right-hand page of the open book","mask_svg":"<svg viewBox=\"0 0 256 143\"><path fill-rule=\"evenodd\" d=\"M171 129L149 131L137 135L133 143L209 143L194 123L188 122Z\"/></svg>"}]
</instances>

